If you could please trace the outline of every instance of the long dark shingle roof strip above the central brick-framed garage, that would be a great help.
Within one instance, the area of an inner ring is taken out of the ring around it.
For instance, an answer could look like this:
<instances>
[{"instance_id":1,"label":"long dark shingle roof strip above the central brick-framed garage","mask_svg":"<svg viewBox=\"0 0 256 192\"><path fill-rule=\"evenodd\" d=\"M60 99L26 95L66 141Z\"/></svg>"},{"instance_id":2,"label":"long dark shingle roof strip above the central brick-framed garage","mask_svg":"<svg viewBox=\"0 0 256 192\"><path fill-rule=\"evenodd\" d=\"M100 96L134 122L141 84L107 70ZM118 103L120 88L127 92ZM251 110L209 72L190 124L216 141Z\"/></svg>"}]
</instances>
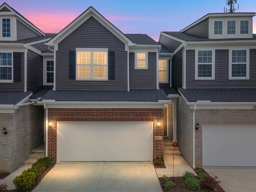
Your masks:
<instances>
[{"instance_id":1,"label":"long dark shingle roof strip above the central brick-framed garage","mask_svg":"<svg viewBox=\"0 0 256 192\"><path fill-rule=\"evenodd\" d=\"M55 101L142 101L157 102L168 100L163 89L127 91L52 91L49 90L42 100Z\"/></svg>"}]
</instances>

